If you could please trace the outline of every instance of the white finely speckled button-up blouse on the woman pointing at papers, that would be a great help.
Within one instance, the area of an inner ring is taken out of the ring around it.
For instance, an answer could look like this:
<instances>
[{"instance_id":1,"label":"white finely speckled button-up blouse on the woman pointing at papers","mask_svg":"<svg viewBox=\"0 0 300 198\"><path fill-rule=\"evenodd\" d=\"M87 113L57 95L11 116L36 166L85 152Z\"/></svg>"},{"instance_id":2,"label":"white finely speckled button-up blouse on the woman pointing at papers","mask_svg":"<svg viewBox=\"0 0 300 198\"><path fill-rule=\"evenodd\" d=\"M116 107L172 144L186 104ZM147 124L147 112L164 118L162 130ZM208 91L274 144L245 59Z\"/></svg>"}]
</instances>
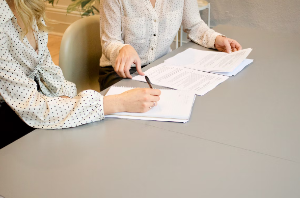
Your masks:
<instances>
[{"instance_id":1,"label":"white finely speckled button-up blouse on the woman pointing at papers","mask_svg":"<svg viewBox=\"0 0 300 198\"><path fill-rule=\"evenodd\" d=\"M124 45L132 45L141 65L171 52L170 45L181 24L195 43L215 48L218 35L200 18L197 0L101 0L100 66L112 65ZM135 66L135 65L132 65Z\"/></svg>"}]
</instances>

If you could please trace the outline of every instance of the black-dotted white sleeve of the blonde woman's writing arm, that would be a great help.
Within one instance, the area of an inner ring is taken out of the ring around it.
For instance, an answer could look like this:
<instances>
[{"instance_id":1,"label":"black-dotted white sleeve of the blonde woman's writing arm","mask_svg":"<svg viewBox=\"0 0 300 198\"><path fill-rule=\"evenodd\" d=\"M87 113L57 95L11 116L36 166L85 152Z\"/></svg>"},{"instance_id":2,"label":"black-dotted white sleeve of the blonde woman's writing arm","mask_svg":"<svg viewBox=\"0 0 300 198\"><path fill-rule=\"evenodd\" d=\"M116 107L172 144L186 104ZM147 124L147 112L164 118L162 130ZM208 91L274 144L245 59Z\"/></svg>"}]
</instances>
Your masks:
<instances>
[{"instance_id":1,"label":"black-dotted white sleeve of the blonde woman's writing arm","mask_svg":"<svg viewBox=\"0 0 300 198\"><path fill-rule=\"evenodd\" d=\"M96 91L82 91L74 98L48 97L39 92L35 81L9 53L7 43L5 33L0 31L0 95L29 126L60 129L104 118L103 96ZM62 80L63 86L70 87L67 84Z\"/></svg>"}]
</instances>

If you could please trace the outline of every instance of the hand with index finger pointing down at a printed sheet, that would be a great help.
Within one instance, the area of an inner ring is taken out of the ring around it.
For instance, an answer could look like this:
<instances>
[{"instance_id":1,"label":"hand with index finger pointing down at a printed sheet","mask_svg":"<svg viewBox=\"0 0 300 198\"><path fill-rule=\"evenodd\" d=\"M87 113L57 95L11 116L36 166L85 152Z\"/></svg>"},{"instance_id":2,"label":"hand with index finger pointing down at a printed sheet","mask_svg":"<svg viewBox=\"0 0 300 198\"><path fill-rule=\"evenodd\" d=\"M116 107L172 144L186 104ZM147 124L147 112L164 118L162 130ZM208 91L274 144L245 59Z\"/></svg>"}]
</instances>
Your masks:
<instances>
[{"instance_id":1,"label":"hand with index finger pointing down at a printed sheet","mask_svg":"<svg viewBox=\"0 0 300 198\"><path fill-rule=\"evenodd\" d=\"M114 71L119 77L132 79L129 70L133 63L136 64L137 73L144 76L145 74L141 70L140 59L136 50L131 45L125 45L120 49L120 53L115 60Z\"/></svg>"}]
</instances>

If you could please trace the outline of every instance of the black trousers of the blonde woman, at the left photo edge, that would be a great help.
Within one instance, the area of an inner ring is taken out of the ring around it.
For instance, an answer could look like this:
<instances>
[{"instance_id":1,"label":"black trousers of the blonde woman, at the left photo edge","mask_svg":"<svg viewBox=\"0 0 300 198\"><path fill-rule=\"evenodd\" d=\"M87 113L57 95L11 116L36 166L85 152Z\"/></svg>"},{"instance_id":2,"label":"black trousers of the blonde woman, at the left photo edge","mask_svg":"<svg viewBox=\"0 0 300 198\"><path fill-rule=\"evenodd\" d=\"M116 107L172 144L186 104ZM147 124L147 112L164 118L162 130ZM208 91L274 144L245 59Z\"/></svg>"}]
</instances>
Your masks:
<instances>
[{"instance_id":1,"label":"black trousers of the blonde woman, at the left photo edge","mask_svg":"<svg viewBox=\"0 0 300 198\"><path fill-rule=\"evenodd\" d=\"M0 149L34 129L28 126L5 102L0 103Z\"/></svg>"}]
</instances>

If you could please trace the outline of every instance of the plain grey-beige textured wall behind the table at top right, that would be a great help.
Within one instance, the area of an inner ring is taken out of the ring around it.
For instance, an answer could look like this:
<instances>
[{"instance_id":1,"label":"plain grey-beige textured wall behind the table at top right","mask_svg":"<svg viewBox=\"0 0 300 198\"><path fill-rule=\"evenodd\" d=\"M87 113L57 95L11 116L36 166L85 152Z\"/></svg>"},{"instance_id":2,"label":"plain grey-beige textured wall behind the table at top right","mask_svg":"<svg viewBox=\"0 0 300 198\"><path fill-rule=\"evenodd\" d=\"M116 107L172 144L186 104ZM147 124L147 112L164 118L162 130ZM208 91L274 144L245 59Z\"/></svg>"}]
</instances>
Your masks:
<instances>
[{"instance_id":1,"label":"plain grey-beige textured wall behind the table at top right","mask_svg":"<svg viewBox=\"0 0 300 198\"><path fill-rule=\"evenodd\" d=\"M219 24L300 32L300 0L207 0L211 3L211 27ZM207 20L207 11L201 17Z\"/></svg>"}]
</instances>

